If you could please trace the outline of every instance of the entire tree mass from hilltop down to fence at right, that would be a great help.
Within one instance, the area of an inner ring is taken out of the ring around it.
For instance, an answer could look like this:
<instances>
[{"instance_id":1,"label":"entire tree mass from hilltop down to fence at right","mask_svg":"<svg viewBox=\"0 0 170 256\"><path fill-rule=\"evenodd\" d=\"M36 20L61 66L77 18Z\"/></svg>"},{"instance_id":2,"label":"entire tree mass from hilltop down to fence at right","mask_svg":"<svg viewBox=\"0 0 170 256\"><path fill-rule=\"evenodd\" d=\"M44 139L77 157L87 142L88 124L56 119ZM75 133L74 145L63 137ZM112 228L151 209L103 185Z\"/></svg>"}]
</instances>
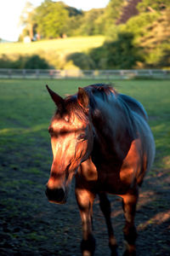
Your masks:
<instances>
[{"instance_id":1,"label":"entire tree mass from hilltop down to fence at right","mask_svg":"<svg viewBox=\"0 0 170 256\"><path fill-rule=\"evenodd\" d=\"M101 47L67 56L84 69L170 67L169 0L110 0L89 11L45 0L36 9L27 3L20 20L20 40L105 35Z\"/></svg>"}]
</instances>

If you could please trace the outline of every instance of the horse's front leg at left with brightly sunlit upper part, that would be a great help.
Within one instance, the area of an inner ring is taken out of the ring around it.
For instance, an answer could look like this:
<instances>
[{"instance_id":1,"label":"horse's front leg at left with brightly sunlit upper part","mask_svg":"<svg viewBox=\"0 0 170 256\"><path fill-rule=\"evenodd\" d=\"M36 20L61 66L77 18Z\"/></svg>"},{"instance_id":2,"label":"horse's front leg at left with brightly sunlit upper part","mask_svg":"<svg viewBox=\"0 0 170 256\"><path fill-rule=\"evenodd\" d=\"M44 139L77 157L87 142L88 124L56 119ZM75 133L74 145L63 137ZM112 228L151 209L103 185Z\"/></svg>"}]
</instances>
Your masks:
<instances>
[{"instance_id":1,"label":"horse's front leg at left with brightly sunlit upper part","mask_svg":"<svg viewBox=\"0 0 170 256\"><path fill-rule=\"evenodd\" d=\"M82 255L92 256L95 250L95 239L92 235L92 215L95 195L87 189L76 187L76 197L82 218Z\"/></svg>"}]
</instances>

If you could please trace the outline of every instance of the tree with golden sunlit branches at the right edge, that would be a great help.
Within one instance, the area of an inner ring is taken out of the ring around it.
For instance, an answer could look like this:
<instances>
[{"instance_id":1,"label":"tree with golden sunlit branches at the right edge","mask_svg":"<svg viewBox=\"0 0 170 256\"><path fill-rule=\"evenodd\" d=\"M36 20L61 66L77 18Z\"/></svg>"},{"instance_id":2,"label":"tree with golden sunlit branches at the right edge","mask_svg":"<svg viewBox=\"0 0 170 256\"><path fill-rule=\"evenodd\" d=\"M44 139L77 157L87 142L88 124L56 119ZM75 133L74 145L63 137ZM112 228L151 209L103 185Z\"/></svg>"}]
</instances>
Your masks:
<instances>
[{"instance_id":1,"label":"tree with golden sunlit branches at the right edge","mask_svg":"<svg viewBox=\"0 0 170 256\"><path fill-rule=\"evenodd\" d=\"M161 15L154 22L144 27L139 44L144 49L146 67L170 66L170 8L161 11Z\"/></svg>"}]
</instances>

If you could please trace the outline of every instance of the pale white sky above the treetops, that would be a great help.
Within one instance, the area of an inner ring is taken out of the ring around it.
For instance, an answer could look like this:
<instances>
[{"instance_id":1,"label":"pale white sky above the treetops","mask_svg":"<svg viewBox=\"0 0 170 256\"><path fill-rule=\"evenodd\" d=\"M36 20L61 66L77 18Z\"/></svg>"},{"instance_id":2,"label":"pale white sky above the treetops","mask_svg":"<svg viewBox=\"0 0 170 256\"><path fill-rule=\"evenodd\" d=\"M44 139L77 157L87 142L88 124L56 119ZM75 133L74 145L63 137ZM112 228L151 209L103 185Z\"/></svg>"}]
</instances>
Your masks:
<instances>
[{"instance_id":1,"label":"pale white sky above the treetops","mask_svg":"<svg viewBox=\"0 0 170 256\"><path fill-rule=\"evenodd\" d=\"M20 14L26 2L38 6L43 0L0 0L0 38L8 41L18 40L21 32L19 26ZM77 9L89 10L105 8L109 0L63 0L63 2Z\"/></svg>"}]
</instances>

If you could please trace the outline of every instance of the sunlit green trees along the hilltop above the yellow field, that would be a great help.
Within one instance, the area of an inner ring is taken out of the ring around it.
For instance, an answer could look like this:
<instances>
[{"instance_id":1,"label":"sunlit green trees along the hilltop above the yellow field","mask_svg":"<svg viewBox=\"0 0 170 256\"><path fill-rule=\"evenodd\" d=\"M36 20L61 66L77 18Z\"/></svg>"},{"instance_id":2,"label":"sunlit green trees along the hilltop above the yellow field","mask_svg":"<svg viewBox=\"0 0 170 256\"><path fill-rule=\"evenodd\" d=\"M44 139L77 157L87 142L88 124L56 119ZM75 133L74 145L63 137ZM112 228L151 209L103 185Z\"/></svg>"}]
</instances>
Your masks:
<instances>
[{"instance_id":1,"label":"sunlit green trees along the hilltop above the yellow field","mask_svg":"<svg viewBox=\"0 0 170 256\"><path fill-rule=\"evenodd\" d=\"M45 0L36 9L27 2L20 16L25 26L20 40L29 35L31 39L50 39L72 36L105 34L109 25L116 22L121 7L127 1L111 0L105 9L82 11L63 2ZM114 5L114 6L113 6Z\"/></svg>"}]
</instances>

